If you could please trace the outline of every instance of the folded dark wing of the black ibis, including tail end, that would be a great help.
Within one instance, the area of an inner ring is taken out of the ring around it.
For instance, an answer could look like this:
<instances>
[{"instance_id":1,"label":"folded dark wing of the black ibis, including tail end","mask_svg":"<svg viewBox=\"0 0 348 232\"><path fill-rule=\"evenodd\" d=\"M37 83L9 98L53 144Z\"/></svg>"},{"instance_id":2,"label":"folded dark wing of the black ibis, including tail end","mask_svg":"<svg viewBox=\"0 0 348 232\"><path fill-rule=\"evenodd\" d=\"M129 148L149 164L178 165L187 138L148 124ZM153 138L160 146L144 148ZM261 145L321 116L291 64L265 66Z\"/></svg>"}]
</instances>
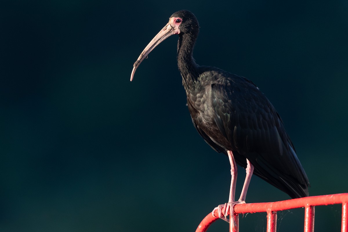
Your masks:
<instances>
[{"instance_id":1,"label":"folded dark wing of the black ibis, including tail end","mask_svg":"<svg viewBox=\"0 0 348 232\"><path fill-rule=\"evenodd\" d=\"M291 197L308 195L308 178L278 113L249 80L211 85L215 123L232 149L250 160L254 173Z\"/></svg>"}]
</instances>

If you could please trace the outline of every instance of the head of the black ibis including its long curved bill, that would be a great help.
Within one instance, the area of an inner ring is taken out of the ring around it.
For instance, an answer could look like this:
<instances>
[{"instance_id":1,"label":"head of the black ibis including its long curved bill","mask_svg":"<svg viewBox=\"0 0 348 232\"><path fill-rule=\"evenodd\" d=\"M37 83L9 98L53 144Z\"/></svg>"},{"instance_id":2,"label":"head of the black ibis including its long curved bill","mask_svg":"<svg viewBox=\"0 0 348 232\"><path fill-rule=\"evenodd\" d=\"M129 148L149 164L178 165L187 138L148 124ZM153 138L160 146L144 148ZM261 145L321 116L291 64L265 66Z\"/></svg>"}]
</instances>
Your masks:
<instances>
[{"instance_id":1,"label":"head of the black ibis including its long curved bill","mask_svg":"<svg viewBox=\"0 0 348 232\"><path fill-rule=\"evenodd\" d=\"M140 63L150 54L150 52L159 45L162 41L167 39L171 35L179 34L191 34L194 38L197 37L199 32L199 25L197 18L188 10L179 10L175 12L170 18L169 22L163 27L162 30L150 41L148 46L142 51L137 61L133 65L133 71L130 75L130 81L133 80L134 73L139 67Z\"/></svg>"}]
</instances>

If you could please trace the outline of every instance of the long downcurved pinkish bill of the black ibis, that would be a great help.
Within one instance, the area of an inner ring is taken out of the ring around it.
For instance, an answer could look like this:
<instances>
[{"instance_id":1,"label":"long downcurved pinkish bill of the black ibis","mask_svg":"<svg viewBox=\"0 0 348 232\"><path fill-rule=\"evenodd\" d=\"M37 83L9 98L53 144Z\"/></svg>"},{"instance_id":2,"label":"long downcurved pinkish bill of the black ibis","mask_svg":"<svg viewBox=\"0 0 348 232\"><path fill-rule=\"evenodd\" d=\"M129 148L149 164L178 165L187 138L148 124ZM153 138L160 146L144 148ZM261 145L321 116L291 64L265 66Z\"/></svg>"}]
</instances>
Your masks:
<instances>
[{"instance_id":1,"label":"long downcurved pinkish bill of the black ibis","mask_svg":"<svg viewBox=\"0 0 348 232\"><path fill-rule=\"evenodd\" d=\"M170 22L170 20L169 20ZM151 40L151 42L148 44L148 46L145 47L145 49L142 51L136 62L133 64L133 71L132 74L130 74L130 81L133 80L135 70L139 67L140 63L149 55L149 53L157 46L159 45L163 40L167 39L169 36L174 34L179 34L179 30L177 27L173 27L170 23L167 23L165 27L163 27L160 32Z\"/></svg>"}]
</instances>

